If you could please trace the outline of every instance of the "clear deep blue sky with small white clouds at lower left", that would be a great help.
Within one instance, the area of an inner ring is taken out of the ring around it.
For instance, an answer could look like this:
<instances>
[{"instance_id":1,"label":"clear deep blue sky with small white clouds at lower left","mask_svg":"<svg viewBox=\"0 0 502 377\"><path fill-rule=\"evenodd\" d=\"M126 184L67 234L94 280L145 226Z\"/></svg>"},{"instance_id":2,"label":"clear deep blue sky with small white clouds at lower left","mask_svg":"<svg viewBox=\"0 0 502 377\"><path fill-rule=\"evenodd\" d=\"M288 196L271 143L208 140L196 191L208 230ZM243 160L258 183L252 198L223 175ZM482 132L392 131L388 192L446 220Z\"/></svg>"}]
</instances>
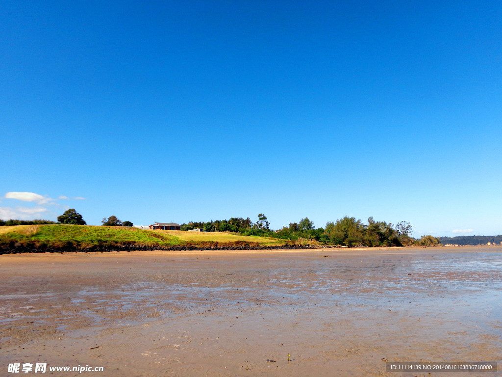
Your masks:
<instances>
[{"instance_id":1,"label":"clear deep blue sky with small white clouds at lower left","mask_svg":"<svg viewBox=\"0 0 502 377\"><path fill-rule=\"evenodd\" d=\"M0 218L502 234L499 1L6 0L0 35Z\"/></svg>"}]
</instances>

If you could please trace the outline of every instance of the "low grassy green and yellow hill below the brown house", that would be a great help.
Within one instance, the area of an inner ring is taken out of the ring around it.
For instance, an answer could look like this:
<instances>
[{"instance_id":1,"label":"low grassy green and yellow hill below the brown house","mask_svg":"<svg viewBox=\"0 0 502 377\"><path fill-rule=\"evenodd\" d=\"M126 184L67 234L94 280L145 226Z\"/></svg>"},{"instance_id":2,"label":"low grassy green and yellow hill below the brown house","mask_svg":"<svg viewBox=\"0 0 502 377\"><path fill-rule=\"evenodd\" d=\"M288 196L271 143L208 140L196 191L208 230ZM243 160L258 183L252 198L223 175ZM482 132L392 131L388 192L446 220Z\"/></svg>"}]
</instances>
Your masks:
<instances>
[{"instance_id":1,"label":"low grassy green and yellow hill below the brown house","mask_svg":"<svg viewBox=\"0 0 502 377\"><path fill-rule=\"evenodd\" d=\"M90 225L0 227L0 254L19 252L204 250L294 247L285 241L230 233L144 230Z\"/></svg>"}]
</instances>

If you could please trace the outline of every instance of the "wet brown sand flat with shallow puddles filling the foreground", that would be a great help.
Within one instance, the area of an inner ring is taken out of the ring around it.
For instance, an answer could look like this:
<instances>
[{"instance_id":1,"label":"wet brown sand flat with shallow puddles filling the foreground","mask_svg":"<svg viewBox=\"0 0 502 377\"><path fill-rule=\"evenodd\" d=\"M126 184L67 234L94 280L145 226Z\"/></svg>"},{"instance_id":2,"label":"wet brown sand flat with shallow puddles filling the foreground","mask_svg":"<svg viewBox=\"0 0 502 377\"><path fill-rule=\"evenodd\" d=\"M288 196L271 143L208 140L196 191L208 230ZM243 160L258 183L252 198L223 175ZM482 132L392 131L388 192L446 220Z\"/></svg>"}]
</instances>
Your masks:
<instances>
[{"instance_id":1,"label":"wet brown sand flat with shallow puddles filling the foreground","mask_svg":"<svg viewBox=\"0 0 502 377\"><path fill-rule=\"evenodd\" d=\"M496 247L0 255L0 287L7 376L20 375L7 372L14 362L104 367L52 374L65 376L496 375L390 373L385 360L502 368Z\"/></svg>"}]
</instances>

